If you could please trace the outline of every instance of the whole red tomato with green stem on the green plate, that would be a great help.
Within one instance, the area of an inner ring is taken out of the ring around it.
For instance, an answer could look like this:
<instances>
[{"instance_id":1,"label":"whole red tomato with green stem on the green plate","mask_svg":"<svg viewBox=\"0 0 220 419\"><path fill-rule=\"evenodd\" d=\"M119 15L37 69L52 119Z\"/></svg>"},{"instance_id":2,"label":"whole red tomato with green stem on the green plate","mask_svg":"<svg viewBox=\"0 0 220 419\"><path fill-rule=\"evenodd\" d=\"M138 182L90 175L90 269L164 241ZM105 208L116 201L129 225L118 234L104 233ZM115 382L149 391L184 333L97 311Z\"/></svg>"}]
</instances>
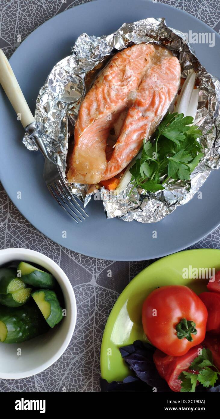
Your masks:
<instances>
[{"instance_id":1,"label":"whole red tomato with green stem on the green plate","mask_svg":"<svg viewBox=\"0 0 220 419\"><path fill-rule=\"evenodd\" d=\"M147 338L174 357L186 354L203 341L206 322L205 305L183 285L157 288L143 303L142 323Z\"/></svg>"}]
</instances>

